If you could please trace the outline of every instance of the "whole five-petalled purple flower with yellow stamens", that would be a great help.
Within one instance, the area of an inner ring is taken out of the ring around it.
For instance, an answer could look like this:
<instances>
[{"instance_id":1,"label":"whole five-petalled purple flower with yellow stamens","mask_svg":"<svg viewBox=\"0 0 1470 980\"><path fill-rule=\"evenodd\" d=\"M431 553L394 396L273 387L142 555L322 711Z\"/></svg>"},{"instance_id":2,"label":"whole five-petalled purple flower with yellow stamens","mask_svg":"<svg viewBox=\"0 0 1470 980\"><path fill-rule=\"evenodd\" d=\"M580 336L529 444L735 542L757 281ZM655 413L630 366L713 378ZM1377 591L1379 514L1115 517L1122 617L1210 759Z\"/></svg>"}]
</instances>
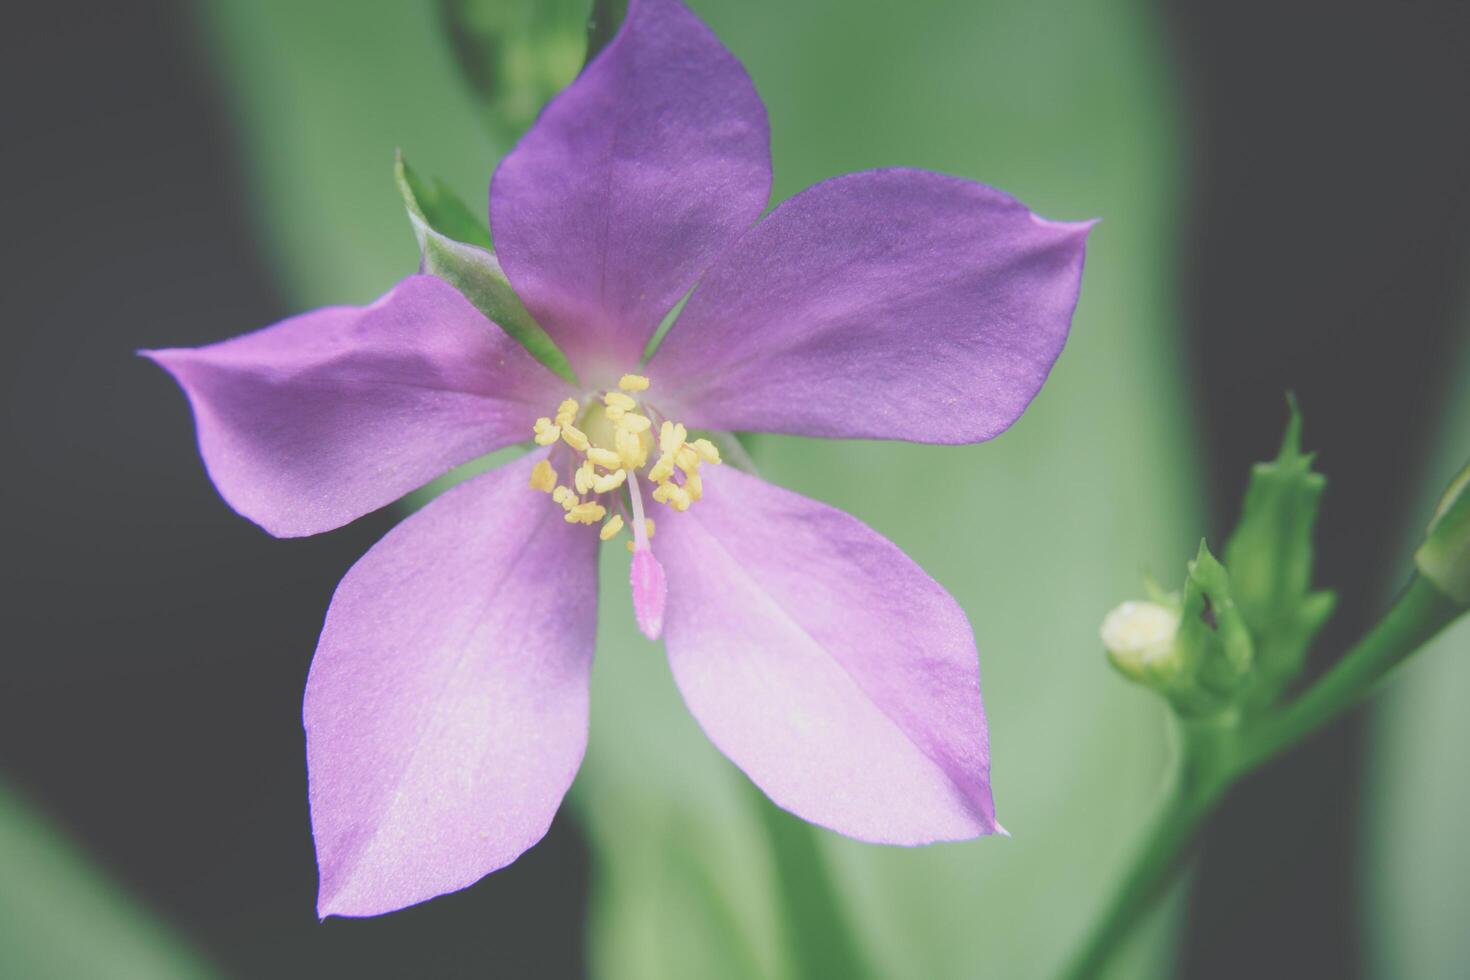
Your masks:
<instances>
[{"instance_id":1,"label":"whole five-petalled purple flower with yellow stamens","mask_svg":"<svg viewBox=\"0 0 1470 980\"><path fill-rule=\"evenodd\" d=\"M920 170L761 219L769 190L744 69L675 0L632 0L491 185L498 262L581 385L422 275L148 354L220 494L278 536L539 447L404 520L332 598L304 707L322 915L465 887L541 839L587 743L600 539L625 527L639 626L776 804L883 843L998 829L960 607L858 520L695 436L1004 432L1066 341L1088 225ZM922 504L922 472L894 479Z\"/></svg>"}]
</instances>

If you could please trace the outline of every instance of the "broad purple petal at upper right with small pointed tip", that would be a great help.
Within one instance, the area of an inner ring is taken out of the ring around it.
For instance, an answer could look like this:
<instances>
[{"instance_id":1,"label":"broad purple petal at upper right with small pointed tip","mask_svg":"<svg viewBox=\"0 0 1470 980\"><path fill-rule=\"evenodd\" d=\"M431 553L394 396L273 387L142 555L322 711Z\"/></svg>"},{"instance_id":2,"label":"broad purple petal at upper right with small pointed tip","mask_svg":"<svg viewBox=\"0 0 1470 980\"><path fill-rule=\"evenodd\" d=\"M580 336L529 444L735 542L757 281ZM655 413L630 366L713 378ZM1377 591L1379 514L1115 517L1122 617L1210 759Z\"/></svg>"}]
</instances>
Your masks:
<instances>
[{"instance_id":1,"label":"broad purple petal at upper right with small pointed tip","mask_svg":"<svg viewBox=\"0 0 1470 980\"><path fill-rule=\"evenodd\" d=\"M922 170L825 181L720 256L647 373L691 426L989 439L1061 353L1089 228Z\"/></svg>"}]
</instances>

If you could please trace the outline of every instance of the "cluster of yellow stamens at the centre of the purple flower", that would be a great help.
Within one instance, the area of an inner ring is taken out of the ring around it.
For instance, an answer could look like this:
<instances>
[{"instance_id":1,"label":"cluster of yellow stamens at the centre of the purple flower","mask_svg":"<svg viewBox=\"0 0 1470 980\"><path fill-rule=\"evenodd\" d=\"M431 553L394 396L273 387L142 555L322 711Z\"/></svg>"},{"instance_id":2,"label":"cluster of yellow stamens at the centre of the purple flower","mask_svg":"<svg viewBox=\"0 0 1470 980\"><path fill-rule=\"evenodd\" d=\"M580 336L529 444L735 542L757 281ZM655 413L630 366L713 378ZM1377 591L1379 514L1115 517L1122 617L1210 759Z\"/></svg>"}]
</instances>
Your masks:
<instances>
[{"instance_id":1,"label":"cluster of yellow stamens at the centre of the purple flower","mask_svg":"<svg viewBox=\"0 0 1470 980\"><path fill-rule=\"evenodd\" d=\"M554 416L535 425L537 444L554 448L531 472L531 486L551 494L569 525L601 525L603 541L632 522L629 551L647 548L654 529L642 516L639 473L653 483L654 501L685 511L703 495L700 466L720 461L713 442L691 441L684 425L641 401L647 389L642 375L623 375L616 389L588 398L585 406L567 398Z\"/></svg>"}]
</instances>

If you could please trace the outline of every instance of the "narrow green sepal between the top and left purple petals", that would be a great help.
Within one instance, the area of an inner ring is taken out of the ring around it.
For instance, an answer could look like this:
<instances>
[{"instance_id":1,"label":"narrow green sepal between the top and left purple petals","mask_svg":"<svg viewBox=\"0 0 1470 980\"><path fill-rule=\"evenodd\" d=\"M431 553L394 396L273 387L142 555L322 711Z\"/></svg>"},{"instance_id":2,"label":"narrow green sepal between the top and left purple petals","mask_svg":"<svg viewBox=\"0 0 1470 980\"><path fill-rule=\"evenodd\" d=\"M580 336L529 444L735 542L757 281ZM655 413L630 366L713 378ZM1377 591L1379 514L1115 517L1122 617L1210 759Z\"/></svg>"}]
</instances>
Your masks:
<instances>
[{"instance_id":1,"label":"narrow green sepal between the top and left purple petals","mask_svg":"<svg viewBox=\"0 0 1470 980\"><path fill-rule=\"evenodd\" d=\"M459 289L475 309L531 351L532 357L576 383L566 356L510 287L500 260L490 250L490 231L442 182L431 185L419 178L401 151L394 160L394 178L409 210L413 234L419 239L423 272Z\"/></svg>"}]
</instances>

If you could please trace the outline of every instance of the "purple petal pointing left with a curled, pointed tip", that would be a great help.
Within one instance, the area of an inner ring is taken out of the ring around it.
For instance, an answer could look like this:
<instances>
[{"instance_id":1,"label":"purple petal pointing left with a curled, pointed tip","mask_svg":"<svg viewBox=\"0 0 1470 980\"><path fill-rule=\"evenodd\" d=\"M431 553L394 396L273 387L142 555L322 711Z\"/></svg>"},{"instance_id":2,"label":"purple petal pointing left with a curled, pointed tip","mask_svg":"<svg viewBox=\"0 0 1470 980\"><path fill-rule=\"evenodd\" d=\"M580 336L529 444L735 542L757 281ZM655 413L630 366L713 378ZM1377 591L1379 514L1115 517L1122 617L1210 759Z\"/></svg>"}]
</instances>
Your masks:
<instances>
[{"instance_id":1,"label":"purple petal pointing left with a curled, pointed tip","mask_svg":"<svg viewBox=\"0 0 1470 980\"><path fill-rule=\"evenodd\" d=\"M220 495L279 538L340 527L529 438L566 391L434 276L372 306L143 354L188 395Z\"/></svg>"}]
</instances>

